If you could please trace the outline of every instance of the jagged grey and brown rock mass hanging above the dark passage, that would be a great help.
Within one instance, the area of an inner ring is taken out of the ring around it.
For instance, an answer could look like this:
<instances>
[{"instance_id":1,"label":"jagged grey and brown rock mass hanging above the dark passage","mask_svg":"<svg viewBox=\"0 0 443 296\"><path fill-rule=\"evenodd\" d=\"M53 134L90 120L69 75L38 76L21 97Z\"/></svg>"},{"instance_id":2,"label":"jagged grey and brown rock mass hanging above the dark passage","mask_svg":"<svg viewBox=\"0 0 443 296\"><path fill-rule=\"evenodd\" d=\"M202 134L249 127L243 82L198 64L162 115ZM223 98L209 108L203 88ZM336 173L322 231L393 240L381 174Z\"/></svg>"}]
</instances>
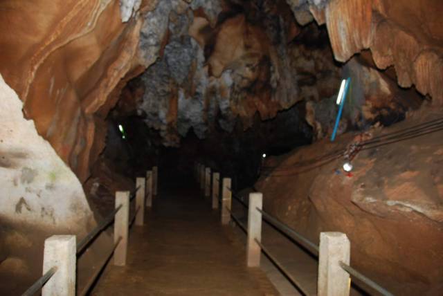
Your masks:
<instances>
[{"instance_id":1,"label":"jagged grey and brown rock mass hanging above the dark passage","mask_svg":"<svg viewBox=\"0 0 443 296\"><path fill-rule=\"evenodd\" d=\"M284 2L249 4L221 15L214 28L206 13L190 13L194 6L176 2L163 4L168 22L145 22L151 33L143 31L141 44L151 45L141 45L142 52L150 62L159 59L137 78L145 91L136 108L147 127L159 130L163 145L180 145L190 129L200 139L217 127L231 132L237 120L248 129L255 113L267 120L301 100L335 93L339 68L327 36L309 26L311 46L301 46L302 40L288 44L302 30ZM165 41L152 46L143 36Z\"/></svg>"}]
</instances>

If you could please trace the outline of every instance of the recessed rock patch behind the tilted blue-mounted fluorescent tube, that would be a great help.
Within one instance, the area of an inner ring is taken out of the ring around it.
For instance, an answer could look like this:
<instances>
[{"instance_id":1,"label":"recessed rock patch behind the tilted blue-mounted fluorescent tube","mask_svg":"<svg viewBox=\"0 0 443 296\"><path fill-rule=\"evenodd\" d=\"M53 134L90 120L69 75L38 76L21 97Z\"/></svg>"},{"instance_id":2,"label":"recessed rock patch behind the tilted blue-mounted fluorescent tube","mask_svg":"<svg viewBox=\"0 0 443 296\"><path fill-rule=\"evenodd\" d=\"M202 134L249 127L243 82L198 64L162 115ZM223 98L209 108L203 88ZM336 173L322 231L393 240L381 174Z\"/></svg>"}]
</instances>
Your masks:
<instances>
[{"instance_id":1,"label":"recessed rock patch behind the tilted blue-mounted fluorescent tube","mask_svg":"<svg viewBox=\"0 0 443 296\"><path fill-rule=\"evenodd\" d=\"M342 73L351 81L338 134L350 129L365 130L377 122L385 126L395 124L404 120L408 110L422 104L422 98L415 91L399 89L395 77L378 71L368 52L352 57L343 66ZM338 85L339 82L332 79L329 77L326 85ZM309 100L306 104L306 120L314 127L316 139L332 134L338 111L334 89L320 98L323 99Z\"/></svg>"}]
</instances>

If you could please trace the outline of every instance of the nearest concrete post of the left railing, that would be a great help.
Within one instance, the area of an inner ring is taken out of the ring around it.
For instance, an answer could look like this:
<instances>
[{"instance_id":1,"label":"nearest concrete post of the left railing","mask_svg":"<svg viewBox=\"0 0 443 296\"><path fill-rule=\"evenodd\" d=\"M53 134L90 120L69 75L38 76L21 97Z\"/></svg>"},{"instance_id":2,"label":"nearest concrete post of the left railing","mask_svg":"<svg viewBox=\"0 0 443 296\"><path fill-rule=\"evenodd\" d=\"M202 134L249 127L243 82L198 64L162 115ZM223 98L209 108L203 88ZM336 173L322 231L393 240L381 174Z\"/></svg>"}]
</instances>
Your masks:
<instances>
[{"instance_id":1,"label":"nearest concrete post of the left railing","mask_svg":"<svg viewBox=\"0 0 443 296\"><path fill-rule=\"evenodd\" d=\"M53 235L44 241L43 274L54 266L55 274L42 288L42 296L74 296L77 263L75 235Z\"/></svg>"}]
</instances>

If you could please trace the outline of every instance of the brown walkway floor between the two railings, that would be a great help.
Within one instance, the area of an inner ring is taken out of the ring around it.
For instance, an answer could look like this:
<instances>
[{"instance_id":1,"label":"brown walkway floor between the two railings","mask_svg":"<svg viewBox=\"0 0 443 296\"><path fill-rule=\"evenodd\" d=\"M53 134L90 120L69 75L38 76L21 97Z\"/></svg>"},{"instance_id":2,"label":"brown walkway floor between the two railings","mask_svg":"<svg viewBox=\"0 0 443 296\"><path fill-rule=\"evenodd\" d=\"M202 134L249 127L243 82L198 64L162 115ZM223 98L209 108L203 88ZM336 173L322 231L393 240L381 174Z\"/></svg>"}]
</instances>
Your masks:
<instances>
[{"instance_id":1,"label":"brown walkway floor between the two railings","mask_svg":"<svg viewBox=\"0 0 443 296\"><path fill-rule=\"evenodd\" d=\"M91 295L278 295L234 236L197 189L170 185L129 231L127 266L110 261Z\"/></svg>"}]
</instances>

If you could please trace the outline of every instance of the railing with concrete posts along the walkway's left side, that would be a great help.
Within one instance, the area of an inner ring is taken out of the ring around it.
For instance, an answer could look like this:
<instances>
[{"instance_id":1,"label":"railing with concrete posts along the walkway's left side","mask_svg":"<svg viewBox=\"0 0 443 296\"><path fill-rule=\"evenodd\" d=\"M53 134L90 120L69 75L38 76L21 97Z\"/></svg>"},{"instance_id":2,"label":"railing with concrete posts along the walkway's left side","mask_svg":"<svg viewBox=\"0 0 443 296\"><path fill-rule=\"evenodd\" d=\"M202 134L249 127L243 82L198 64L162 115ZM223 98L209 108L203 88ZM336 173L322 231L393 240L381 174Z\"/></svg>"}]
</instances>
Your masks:
<instances>
[{"instance_id":1,"label":"railing with concrete posts along the walkway's left side","mask_svg":"<svg viewBox=\"0 0 443 296\"><path fill-rule=\"evenodd\" d=\"M116 192L116 208L109 213L83 239L75 243L75 235L53 235L44 242L44 275L37 279L22 296L35 295L42 290L42 295L87 295L105 268L112 255L114 265L125 266L127 257L128 232L132 223L144 224L145 207L152 207L152 198L157 194L158 169L153 167L145 178L136 178L133 192ZM136 200L133 216L129 219L129 207ZM84 251L97 239L103 230L114 221L114 245L102 261L100 268L80 292L75 290L75 267Z\"/></svg>"}]
</instances>

